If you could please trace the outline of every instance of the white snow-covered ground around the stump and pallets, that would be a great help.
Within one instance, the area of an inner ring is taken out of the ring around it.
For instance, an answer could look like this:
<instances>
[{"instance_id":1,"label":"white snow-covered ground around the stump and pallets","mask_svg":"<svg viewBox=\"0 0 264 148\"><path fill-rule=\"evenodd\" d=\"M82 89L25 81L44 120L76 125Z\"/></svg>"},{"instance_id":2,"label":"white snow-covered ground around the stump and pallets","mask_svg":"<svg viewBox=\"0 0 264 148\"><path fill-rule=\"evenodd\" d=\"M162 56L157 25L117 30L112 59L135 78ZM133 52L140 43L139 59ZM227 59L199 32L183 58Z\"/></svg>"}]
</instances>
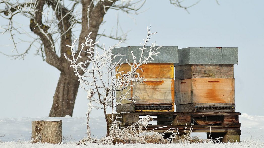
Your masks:
<instances>
[{"instance_id":1,"label":"white snow-covered ground around the stump and pallets","mask_svg":"<svg viewBox=\"0 0 264 148\"><path fill-rule=\"evenodd\" d=\"M31 121L35 120L62 120L63 145L30 144ZM241 143L237 144L171 144L171 145L142 145L143 147L264 147L264 116L251 116L242 114L239 116L241 123ZM106 134L105 119L102 116L91 118L91 133L94 137L102 137ZM91 144L88 146L76 146L86 136L86 118L5 118L0 119L0 147L110 147ZM197 133L193 133L197 135ZM206 138L205 133L199 134ZM73 142L73 143L71 143ZM111 147L119 147L115 145ZM126 145L127 147L139 147L139 145Z\"/></svg>"}]
</instances>

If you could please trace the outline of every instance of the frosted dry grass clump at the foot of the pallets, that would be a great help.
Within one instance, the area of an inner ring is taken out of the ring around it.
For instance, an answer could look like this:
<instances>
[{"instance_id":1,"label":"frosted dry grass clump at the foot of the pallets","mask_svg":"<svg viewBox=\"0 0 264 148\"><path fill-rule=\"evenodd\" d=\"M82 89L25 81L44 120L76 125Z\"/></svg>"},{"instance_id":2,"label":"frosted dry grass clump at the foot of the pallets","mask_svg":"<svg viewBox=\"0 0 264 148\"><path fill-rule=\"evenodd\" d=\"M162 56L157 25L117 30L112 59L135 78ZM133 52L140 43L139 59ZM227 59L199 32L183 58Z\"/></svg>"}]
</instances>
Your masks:
<instances>
[{"instance_id":1,"label":"frosted dry grass clump at the foot of the pallets","mask_svg":"<svg viewBox=\"0 0 264 148\"><path fill-rule=\"evenodd\" d=\"M154 132L154 130L162 127L158 127L151 131L147 131L149 121L153 119L147 115L142 119L139 119L138 122L128 126L124 129L119 128L120 121L114 120L110 128L110 135L103 137L102 139L88 138L85 137L79 144L86 143L97 143L97 144L170 144L173 142L177 143L206 143L206 142L217 142L219 139L200 139L198 136L190 136L192 132L192 127L187 131L187 123L183 133L179 132L178 129L172 129L165 131L164 133ZM166 127L166 126L163 126ZM145 129L145 130L144 130ZM167 139L164 139L163 135L165 133L171 133L171 136Z\"/></svg>"}]
</instances>

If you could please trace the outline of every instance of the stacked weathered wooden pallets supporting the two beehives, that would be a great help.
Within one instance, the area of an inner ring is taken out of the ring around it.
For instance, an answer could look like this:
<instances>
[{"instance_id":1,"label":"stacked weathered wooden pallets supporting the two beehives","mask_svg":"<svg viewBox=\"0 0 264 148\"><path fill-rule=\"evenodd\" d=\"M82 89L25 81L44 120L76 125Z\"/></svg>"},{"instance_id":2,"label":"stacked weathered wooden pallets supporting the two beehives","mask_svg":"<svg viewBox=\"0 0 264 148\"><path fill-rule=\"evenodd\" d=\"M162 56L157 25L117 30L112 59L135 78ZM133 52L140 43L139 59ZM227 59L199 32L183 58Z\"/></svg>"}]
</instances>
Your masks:
<instances>
[{"instance_id":1,"label":"stacked weathered wooden pallets supporting the two beehives","mask_svg":"<svg viewBox=\"0 0 264 148\"><path fill-rule=\"evenodd\" d=\"M157 127L166 125L154 130L155 132L166 132L170 128L179 129L179 132L185 130L186 123L188 125L186 130L193 128L192 132L206 132L212 138L224 137L222 142L236 142L240 141L241 130L238 120L240 113L171 113L171 112L134 112L134 113L121 113L122 122L120 127L127 127L137 122L142 116L150 115L157 116L153 118L158 121L160 125L149 125L147 131L153 130ZM194 125L191 125L194 124Z\"/></svg>"}]
</instances>

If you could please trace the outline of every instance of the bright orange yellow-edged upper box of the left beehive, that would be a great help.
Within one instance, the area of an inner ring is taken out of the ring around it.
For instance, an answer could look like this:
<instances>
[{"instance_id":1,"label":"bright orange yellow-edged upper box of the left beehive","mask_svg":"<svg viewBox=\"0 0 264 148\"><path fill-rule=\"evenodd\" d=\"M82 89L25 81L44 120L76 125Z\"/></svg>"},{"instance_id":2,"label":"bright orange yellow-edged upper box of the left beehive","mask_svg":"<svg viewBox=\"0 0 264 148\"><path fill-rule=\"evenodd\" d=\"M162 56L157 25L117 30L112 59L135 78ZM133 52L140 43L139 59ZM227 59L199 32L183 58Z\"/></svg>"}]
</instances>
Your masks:
<instances>
[{"instance_id":1,"label":"bright orange yellow-edged upper box of the left beehive","mask_svg":"<svg viewBox=\"0 0 264 148\"><path fill-rule=\"evenodd\" d=\"M116 71L119 67L116 67ZM143 70L136 70L140 76L145 78L174 78L173 63L148 63L140 66ZM128 64L122 64L118 72L127 73L131 70ZM116 75L118 77L118 75Z\"/></svg>"}]
</instances>

